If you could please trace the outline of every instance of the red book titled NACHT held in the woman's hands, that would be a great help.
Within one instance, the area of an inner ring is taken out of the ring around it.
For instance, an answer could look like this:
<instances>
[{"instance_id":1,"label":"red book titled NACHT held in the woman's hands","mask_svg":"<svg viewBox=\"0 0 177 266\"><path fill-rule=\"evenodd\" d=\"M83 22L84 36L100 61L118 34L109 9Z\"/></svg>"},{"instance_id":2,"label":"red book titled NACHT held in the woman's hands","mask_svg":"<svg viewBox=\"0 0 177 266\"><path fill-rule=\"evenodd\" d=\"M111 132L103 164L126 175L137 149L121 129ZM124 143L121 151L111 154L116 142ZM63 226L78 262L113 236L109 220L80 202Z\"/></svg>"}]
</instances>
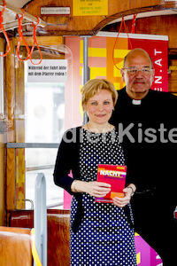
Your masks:
<instances>
[{"instance_id":1,"label":"red book titled NACHT held in the woman's hands","mask_svg":"<svg viewBox=\"0 0 177 266\"><path fill-rule=\"evenodd\" d=\"M96 198L96 202L112 203L112 198L124 197L123 189L126 184L127 166L98 164L97 182L111 184L111 192L104 198Z\"/></svg>"}]
</instances>

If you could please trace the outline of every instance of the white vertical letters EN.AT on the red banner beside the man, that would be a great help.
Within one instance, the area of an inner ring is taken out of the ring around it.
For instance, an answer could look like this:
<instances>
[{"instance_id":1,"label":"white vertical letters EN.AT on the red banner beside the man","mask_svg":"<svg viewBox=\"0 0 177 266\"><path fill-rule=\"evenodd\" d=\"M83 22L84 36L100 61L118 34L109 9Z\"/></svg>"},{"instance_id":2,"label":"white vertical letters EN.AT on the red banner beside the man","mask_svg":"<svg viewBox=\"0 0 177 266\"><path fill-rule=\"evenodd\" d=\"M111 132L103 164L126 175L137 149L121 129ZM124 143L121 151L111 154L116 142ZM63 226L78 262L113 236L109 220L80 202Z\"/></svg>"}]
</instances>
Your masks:
<instances>
[{"instance_id":1,"label":"white vertical letters EN.AT on the red banner beside the man","mask_svg":"<svg viewBox=\"0 0 177 266\"><path fill-rule=\"evenodd\" d=\"M163 69L163 60L162 60L162 51L158 51L157 49L154 49L154 55L156 57L154 64L156 65L156 69L158 68L158 73L162 73ZM154 77L154 83L155 84L162 84L162 75L155 75ZM162 91L162 88L156 87L154 90Z\"/></svg>"}]
</instances>

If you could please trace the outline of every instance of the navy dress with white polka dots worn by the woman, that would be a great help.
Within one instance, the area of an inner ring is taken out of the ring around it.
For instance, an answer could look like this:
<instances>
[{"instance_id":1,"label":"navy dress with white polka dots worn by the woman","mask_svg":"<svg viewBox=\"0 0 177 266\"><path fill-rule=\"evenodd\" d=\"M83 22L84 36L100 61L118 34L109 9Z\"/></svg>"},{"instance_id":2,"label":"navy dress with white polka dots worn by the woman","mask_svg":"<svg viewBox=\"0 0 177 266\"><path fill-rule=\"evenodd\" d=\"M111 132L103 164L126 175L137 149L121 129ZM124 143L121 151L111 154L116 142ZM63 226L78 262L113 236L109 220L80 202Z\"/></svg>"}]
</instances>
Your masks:
<instances>
[{"instance_id":1,"label":"navy dress with white polka dots worn by the woman","mask_svg":"<svg viewBox=\"0 0 177 266\"><path fill-rule=\"evenodd\" d=\"M98 164L125 165L118 132L104 134L82 129L80 168L82 181L96 181ZM98 203L82 194L84 219L76 233L70 230L71 265L132 266L136 265L135 232L130 229L124 208L112 203ZM77 201L73 196L71 224Z\"/></svg>"}]
</instances>

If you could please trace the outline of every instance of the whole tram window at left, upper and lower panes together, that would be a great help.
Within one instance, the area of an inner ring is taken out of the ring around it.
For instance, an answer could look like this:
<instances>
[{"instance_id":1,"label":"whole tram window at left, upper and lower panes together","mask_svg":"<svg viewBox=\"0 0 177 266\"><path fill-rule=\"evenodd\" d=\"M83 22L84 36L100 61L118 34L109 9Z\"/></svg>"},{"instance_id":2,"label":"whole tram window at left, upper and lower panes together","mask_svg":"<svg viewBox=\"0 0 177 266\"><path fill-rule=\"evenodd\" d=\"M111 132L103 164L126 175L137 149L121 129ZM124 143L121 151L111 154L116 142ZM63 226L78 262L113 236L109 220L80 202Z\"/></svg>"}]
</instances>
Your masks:
<instances>
[{"instance_id":1,"label":"whole tram window at left, upper and lower panes together","mask_svg":"<svg viewBox=\"0 0 177 266\"><path fill-rule=\"evenodd\" d=\"M26 148L26 199L35 200L35 178L41 172L46 178L47 206L61 207L63 189L53 183L58 149L50 144L59 145L65 129L65 83L27 82L27 65L25 72L25 142L49 146Z\"/></svg>"}]
</instances>

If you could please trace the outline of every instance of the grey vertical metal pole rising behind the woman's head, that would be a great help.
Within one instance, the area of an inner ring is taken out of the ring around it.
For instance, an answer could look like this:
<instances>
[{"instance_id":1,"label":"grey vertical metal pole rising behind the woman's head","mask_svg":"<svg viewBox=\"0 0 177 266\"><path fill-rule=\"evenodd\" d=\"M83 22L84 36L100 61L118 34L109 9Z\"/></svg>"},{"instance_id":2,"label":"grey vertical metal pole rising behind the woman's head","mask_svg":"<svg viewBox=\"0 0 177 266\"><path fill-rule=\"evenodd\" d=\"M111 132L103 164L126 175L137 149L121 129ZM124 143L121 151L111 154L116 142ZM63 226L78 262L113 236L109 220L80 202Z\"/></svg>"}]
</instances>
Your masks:
<instances>
[{"instance_id":1,"label":"grey vertical metal pole rising behind the woman's head","mask_svg":"<svg viewBox=\"0 0 177 266\"><path fill-rule=\"evenodd\" d=\"M88 37L83 37L83 73L82 73L82 83L83 85L89 81L90 78L90 69L88 66ZM86 124L89 121L88 114L83 113L83 124Z\"/></svg>"}]
</instances>

